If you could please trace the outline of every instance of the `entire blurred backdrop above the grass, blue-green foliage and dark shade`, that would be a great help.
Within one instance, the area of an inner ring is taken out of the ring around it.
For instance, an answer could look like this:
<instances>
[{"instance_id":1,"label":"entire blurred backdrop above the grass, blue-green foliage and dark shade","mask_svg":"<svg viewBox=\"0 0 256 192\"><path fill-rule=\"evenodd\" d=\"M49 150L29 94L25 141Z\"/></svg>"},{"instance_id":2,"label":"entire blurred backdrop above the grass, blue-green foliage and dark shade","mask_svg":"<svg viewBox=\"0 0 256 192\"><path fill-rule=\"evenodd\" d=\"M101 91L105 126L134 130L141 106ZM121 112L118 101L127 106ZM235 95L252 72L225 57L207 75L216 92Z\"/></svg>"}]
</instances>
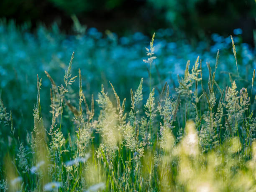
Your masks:
<instances>
[{"instance_id":1,"label":"entire blurred backdrop above the grass, blue-green foliage and dark shade","mask_svg":"<svg viewBox=\"0 0 256 192\"><path fill-rule=\"evenodd\" d=\"M25 138L33 129L38 74L41 113L49 126L51 83L44 71L58 85L64 84L64 71L74 51L72 74L81 69L88 102L91 94L97 99L101 84L114 98L110 81L120 100L127 98L130 110L130 89L138 87L141 77L143 94L148 96L149 66L143 59L154 32L157 59L150 73L156 97L165 82L174 90L177 74L182 77L187 60L193 64L198 55L207 76L206 62L214 67L218 50L215 79L220 88L230 85L230 77L237 80L230 35L236 44L239 86L251 90L256 68L255 18L255 0L0 0L0 98L8 113L12 111L15 134ZM74 106L78 90L75 82L67 94ZM72 119L68 111L67 122ZM64 124L64 134L69 125ZM8 132L3 128L0 135Z\"/></svg>"}]
</instances>

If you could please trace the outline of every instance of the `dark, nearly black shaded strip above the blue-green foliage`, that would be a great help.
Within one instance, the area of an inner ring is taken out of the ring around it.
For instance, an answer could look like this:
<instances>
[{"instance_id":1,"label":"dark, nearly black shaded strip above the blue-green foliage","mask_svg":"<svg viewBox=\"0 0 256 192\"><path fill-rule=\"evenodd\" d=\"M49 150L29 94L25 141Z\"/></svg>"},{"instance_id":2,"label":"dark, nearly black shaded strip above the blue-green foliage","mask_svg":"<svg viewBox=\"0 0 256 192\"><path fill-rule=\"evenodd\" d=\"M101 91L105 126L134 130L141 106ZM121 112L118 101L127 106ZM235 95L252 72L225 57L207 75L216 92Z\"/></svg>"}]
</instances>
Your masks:
<instances>
[{"instance_id":1,"label":"dark, nearly black shaded strip above the blue-green foliage","mask_svg":"<svg viewBox=\"0 0 256 192\"><path fill-rule=\"evenodd\" d=\"M1 0L0 18L39 23L57 22L64 33L72 33L71 15L87 28L110 30L119 36L159 28L173 28L177 35L203 39L212 33L227 36L243 30L243 41L253 45L256 28L255 0Z\"/></svg>"}]
</instances>

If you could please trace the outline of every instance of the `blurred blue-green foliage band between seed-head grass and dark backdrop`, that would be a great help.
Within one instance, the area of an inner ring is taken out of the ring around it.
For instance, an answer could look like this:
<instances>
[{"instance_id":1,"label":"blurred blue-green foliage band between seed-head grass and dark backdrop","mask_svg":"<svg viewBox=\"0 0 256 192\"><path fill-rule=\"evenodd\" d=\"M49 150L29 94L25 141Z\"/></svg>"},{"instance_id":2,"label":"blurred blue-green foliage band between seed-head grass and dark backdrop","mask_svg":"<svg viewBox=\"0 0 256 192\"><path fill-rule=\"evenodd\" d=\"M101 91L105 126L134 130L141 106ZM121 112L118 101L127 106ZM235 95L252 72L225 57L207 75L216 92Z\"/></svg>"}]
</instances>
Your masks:
<instances>
[{"instance_id":1,"label":"blurred blue-green foliage band between seed-head grass and dark backdrop","mask_svg":"<svg viewBox=\"0 0 256 192\"><path fill-rule=\"evenodd\" d=\"M149 66L142 60L146 59L144 47L148 46L150 38L142 33L118 37L110 31L102 34L97 29L90 28L85 34L74 36L64 35L57 25L53 25L51 30L41 26L33 34L29 30L26 25L17 27L14 22L0 22L0 94L8 111L13 110L14 126L19 133L25 133L27 128L33 126L28 119L33 118L31 109L33 103L36 103L36 74L42 77L41 103L44 105L41 106L41 113L49 114L51 84L44 71L49 72L57 84L61 84L64 69L67 69L73 51L73 72L81 69L87 100L90 94L97 95L101 84L110 90L108 81L115 84L122 100L124 97L130 97L129 88L136 87L141 77L145 81L143 90L148 92ZM213 34L214 44L207 41L191 44L185 40L177 41L172 34L172 29L156 31L154 45L158 59L151 66L152 87L161 90L165 81L177 86L177 74L184 74L187 60L195 61L198 55L202 59L202 74L207 75L206 62L215 66L218 49L220 73L216 75L215 80L221 87L222 84L230 84L228 73L231 78L237 79L235 59L230 51L230 37ZM255 50L242 43L239 33L234 37L234 41L241 78L239 86L250 87L251 70L256 67ZM204 83L207 85L207 82ZM225 87L221 87L223 88ZM78 84L69 89L71 102L72 98L78 97L75 95L78 89ZM170 88L171 95L172 90ZM158 95L157 91L156 94ZM50 125L51 122L44 123Z\"/></svg>"}]
</instances>

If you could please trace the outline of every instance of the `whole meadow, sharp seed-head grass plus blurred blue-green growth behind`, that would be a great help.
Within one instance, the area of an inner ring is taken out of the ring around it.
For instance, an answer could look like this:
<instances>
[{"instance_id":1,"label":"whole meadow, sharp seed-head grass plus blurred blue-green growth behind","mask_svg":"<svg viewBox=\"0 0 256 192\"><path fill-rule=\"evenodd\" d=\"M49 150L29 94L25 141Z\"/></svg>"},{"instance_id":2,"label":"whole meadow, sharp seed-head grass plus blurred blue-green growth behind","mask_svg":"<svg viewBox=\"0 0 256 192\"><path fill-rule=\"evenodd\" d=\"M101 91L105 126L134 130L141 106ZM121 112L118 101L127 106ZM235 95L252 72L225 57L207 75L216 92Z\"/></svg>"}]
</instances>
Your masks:
<instances>
[{"instance_id":1,"label":"whole meadow, sharp seed-head grass plus blurred blue-green growth behind","mask_svg":"<svg viewBox=\"0 0 256 192\"><path fill-rule=\"evenodd\" d=\"M0 27L2 191L256 191L256 56L239 36L206 51L162 30L144 51L139 33L20 30Z\"/></svg>"}]
</instances>

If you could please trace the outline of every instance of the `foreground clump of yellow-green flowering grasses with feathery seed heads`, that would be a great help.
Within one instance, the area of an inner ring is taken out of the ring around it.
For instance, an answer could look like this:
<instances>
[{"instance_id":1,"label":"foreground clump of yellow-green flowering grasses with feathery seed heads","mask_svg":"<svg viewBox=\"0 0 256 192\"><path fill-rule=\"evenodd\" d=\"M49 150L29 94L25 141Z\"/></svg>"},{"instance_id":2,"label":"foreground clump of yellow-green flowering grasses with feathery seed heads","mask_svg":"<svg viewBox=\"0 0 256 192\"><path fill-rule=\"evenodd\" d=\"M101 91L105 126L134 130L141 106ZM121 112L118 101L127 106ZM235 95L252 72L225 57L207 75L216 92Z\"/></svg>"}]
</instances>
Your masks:
<instances>
[{"instance_id":1,"label":"foreground clump of yellow-green flowering grasses with feathery seed heads","mask_svg":"<svg viewBox=\"0 0 256 192\"><path fill-rule=\"evenodd\" d=\"M26 140L15 136L12 113L0 100L1 125L10 130L0 146L1 152L8 151L0 189L255 191L255 70L250 89L238 90L243 82L233 39L232 46L237 76L230 75L227 84L215 79L220 68L218 51L214 69L207 64L207 75L202 74L198 56L192 69L187 61L184 75L178 75L178 86L171 89L165 83L156 94L151 83L151 68L157 59L153 36L146 48L148 58L143 60L150 74L148 98L143 102L142 78L137 89L129 90L128 107L111 82L111 93L102 85L97 100L85 96L81 70L72 75L73 53L64 83L58 85L45 71L51 83L47 124L41 112L42 79L37 77L34 126ZM79 92L71 96L75 80Z\"/></svg>"}]
</instances>

